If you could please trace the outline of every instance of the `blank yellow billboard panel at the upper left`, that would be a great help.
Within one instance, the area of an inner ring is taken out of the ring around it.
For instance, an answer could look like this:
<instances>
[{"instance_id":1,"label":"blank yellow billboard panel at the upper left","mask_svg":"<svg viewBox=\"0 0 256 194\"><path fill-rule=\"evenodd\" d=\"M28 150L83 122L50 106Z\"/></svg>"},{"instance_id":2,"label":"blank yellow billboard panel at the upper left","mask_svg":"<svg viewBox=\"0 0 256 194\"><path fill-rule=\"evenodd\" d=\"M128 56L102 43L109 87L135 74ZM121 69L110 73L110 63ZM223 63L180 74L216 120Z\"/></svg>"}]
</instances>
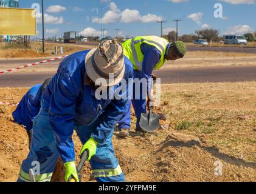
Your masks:
<instances>
[{"instance_id":1,"label":"blank yellow billboard panel at the upper left","mask_svg":"<svg viewBox=\"0 0 256 194\"><path fill-rule=\"evenodd\" d=\"M35 9L0 7L0 35L36 35Z\"/></svg>"}]
</instances>

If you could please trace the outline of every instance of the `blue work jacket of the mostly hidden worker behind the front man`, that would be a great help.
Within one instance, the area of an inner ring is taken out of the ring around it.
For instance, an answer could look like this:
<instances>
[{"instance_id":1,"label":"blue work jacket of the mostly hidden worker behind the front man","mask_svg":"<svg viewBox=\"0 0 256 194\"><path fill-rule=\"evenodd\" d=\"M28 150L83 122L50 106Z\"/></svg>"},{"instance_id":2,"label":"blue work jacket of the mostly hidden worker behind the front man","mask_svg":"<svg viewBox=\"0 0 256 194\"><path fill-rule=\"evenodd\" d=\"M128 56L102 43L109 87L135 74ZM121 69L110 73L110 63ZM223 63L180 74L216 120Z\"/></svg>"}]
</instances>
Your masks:
<instances>
[{"instance_id":1,"label":"blue work jacket of the mostly hidden worker behind the front man","mask_svg":"<svg viewBox=\"0 0 256 194\"><path fill-rule=\"evenodd\" d=\"M33 127L32 120L38 115L41 108L42 99L42 84L38 84L29 89L26 95L23 96L18 107L12 113L14 121L24 125L27 131Z\"/></svg>"}]
</instances>

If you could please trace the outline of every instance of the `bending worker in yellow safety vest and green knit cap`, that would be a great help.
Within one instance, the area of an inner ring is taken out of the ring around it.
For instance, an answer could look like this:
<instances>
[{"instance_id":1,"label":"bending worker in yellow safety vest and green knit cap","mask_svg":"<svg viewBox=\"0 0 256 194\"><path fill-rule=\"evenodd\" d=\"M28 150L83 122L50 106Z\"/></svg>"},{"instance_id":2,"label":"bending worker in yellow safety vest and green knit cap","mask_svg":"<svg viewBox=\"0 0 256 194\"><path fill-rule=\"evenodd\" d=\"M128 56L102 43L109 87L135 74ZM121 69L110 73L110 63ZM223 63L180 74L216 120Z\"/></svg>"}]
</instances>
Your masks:
<instances>
[{"instance_id":1,"label":"bending worker in yellow safety vest and green knit cap","mask_svg":"<svg viewBox=\"0 0 256 194\"><path fill-rule=\"evenodd\" d=\"M186 51L187 48L184 42L170 43L167 39L158 36L137 36L123 42L123 54L133 63L134 79L147 79L148 91L150 90L149 80L152 78L153 71L160 69L166 61L183 58ZM139 99L136 98L138 92ZM143 98L143 96L147 96L147 93L143 92L141 85L139 91L136 90L136 87L133 87L133 94L133 100L128 104L127 112L123 114L117 126L120 130L119 135L123 138L129 136L131 102L137 118L136 132L142 131L139 126L141 113L147 113L148 104L145 97ZM151 98L149 98L149 101L151 101ZM151 106L154 106L152 104L151 101Z\"/></svg>"}]
</instances>

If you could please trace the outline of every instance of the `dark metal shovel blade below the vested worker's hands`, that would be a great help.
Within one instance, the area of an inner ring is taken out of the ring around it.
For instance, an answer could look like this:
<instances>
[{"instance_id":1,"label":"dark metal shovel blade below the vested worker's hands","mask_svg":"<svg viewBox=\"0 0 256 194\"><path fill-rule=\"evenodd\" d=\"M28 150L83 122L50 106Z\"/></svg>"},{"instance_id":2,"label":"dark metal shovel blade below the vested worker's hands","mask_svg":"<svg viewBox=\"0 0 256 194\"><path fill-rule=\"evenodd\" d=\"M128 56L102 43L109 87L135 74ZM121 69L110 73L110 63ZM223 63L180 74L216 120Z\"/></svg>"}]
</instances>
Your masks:
<instances>
[{"instance_id":1,"label":"dark metal shovel blade below the vested worker's hands","mask_svg":"<svg viewBox=\"0 0 256 194\"><path fill-rule=\"evenodd\" d=\"M141 113L139 124L140 124L140 127L145 132L149 132L149 133L155 132L160 127L159 115L153 115L152 107L150 107L150 111L148 115Z\"/></svg>"}]
</instances>

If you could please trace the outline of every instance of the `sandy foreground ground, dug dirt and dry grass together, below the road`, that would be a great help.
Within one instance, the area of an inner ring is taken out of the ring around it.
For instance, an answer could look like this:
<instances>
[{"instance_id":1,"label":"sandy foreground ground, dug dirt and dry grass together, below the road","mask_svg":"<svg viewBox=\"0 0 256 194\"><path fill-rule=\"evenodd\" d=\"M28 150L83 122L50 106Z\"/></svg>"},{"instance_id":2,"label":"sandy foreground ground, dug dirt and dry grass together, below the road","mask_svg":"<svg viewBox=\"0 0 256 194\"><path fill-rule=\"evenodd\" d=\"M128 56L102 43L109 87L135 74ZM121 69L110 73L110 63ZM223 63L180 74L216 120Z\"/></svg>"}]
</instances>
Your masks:
<instances>
[{"instance_id":1,"label":"sandy foreground ground, dug dirt and dry grass together, below the road","mask_svg":"<svg viewBox=\"0 0 256 194\"><path fill-rule=\"evenodd\" d=\"M113 137L127 181L256 181L256 82L162 85L165 113L153 134ZM0 101L18 102L27 89L0 89ZM13 99L12 97L13 96ZM28 139L0 105L0 181L15 181L28 153ZM76 155L81 144L74 135ZM78 160L78 158L77 158ZM215 162L223 175L214 175ZM83 181L94 181L86 163ZM63 175L61 175L63 177Z\"/></svg>"}]
</instances>

